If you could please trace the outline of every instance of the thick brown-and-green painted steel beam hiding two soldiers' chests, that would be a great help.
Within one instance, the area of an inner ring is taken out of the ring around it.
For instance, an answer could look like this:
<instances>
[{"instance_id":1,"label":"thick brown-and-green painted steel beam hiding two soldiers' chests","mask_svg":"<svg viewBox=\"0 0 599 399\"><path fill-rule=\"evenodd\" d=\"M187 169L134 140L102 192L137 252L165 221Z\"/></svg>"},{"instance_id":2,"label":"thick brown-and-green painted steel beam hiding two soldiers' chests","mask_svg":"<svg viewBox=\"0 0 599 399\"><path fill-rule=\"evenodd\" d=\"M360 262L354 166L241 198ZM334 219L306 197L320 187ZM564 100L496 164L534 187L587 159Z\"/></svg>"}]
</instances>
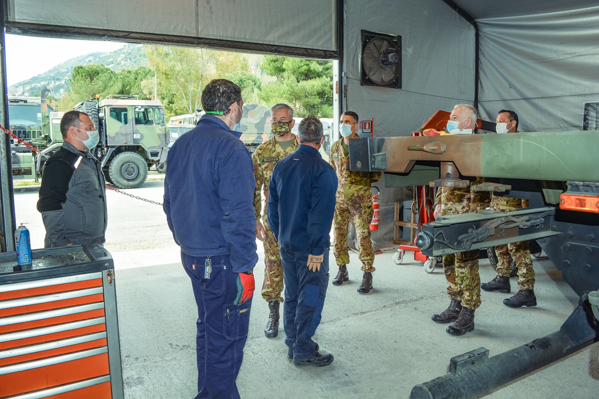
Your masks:
<instances>
[{"instance_id":1,"label":"thick brown-and-green painted steel beam hiding two soldiers' chests","mask_svg":"<svg viewBox=\"0 0 599 399\"><path fill-rule=\"evenodd\" d=\"M443 151L426 151L433 147ZM585 182L599 182L599 168L588 167L596 147L592 130L349 141L351 170L406 173L416 161L450 161L464 176Z\"/></svg>"}]
</instances>

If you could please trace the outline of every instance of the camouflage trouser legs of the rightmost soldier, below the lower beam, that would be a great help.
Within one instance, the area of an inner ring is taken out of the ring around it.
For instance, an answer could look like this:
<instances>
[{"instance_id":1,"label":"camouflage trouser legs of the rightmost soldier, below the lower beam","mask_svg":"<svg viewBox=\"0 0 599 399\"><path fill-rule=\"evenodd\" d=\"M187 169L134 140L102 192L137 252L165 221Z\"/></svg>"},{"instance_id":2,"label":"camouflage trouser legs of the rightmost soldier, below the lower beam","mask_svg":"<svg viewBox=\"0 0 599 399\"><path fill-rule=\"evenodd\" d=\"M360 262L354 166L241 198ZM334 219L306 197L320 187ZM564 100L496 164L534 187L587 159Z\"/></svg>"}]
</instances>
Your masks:
<instances>
[{"instance_id":1,"label":"camouflage trouser legs of the rightmost soldier, below the lower beam","mask_svg":"<svg viewBox=\"0 0 599 399\"><path fill-rule=\"evenodd\" d=\"M497 275L508 277L512 272L511 260L518 267L518 289L532 290L534 288L533 260L530 257L528 241L514 242L495 247L497 254Z\"/></svg>"}]
</instances>

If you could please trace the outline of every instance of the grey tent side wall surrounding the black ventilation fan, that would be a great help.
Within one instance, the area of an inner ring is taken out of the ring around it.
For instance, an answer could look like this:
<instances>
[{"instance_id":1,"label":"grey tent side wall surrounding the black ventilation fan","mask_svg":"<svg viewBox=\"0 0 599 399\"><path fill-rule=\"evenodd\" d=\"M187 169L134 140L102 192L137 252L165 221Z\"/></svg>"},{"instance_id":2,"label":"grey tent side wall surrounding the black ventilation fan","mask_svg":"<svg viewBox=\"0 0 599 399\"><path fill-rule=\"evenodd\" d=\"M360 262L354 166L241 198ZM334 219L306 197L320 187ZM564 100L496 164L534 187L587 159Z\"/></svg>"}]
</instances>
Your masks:
<instances>
[{"instance_id":1,"label":"grey tent side wall surrounding the black ventilation fan","mask_svg":"<svg viewBox=\"0 0 599 399\"><path fill-rule=\"evenodd\" d=\"M474 27L443 1L347 1L345 16L343 110L374 118L374 136L409 136L437 109L473 103ZM402 89L360 85L361 29L401 36ZM382 193L377 243L393 240L394 202L412 199L384 179L374 184Z\"/></svg>"}]
</instances>

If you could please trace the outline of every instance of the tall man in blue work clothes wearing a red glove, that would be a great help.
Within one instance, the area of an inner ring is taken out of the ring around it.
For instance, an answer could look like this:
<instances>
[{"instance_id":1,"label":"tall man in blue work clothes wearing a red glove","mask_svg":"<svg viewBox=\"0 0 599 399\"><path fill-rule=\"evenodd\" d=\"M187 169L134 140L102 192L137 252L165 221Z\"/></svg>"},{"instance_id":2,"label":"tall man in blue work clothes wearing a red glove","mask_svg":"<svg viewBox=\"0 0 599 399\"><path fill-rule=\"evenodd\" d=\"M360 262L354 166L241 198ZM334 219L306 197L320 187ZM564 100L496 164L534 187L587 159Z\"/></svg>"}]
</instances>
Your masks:
<instances>
[{"instance_id":1,"label":"tall man in blue work clothes wearing a red glove","mask_svg":"<svg viewBox=\"0 0 599 399\"><path fill-rule=\"evenodd\" d=\"M241 89L216 79L206 112L168 152L164 212L198 305L196 398L239 398L256 254L252 157L236 131Z\"/></svg>"}]
</instances>

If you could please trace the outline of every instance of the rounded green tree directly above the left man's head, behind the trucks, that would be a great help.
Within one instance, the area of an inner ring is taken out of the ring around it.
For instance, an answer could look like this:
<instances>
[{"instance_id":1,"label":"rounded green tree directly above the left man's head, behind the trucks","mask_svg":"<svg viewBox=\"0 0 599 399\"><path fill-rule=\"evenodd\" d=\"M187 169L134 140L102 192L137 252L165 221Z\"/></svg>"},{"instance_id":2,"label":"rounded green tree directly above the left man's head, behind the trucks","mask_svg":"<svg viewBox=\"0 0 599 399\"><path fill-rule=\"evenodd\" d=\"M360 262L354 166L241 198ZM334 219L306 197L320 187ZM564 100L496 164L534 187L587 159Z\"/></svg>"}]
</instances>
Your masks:
<instances>
[{"instance_id":1,"label":"rounded green tree directly above the left man's head, behind the trucks","mask_svg":"<svg viewBox=\"0 0 599 399\"><path fill-rule=\"evenodd\" d=\"M105 65L77 65L71 75L71 92L69 96L80 102L99 95L104 98L120 91L119 75Z\"/></svg>"}]
</instances>

